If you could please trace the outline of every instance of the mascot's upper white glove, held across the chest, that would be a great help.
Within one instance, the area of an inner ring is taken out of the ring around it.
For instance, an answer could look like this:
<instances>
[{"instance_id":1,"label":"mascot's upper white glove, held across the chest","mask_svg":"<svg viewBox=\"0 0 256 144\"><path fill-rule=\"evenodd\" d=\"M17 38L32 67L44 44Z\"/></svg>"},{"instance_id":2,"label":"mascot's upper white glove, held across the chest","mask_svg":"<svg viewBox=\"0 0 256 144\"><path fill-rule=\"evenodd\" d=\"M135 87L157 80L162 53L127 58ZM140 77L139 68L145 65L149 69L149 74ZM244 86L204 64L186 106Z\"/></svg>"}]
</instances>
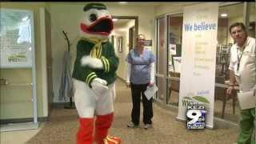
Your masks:
<instances>
[{"instance_id":1,"label":"mascot's upper white glove, held across the chest","mask_svg":"<svg viewBox=\"0 0 256 144\"><path fill-rule=\"evenodd\" d=\"M82 66L89 66L95 69L103 69L102 60L98 58L91 58L90 56L83 56L81 59Z\"/></svg>"}]
</instances>

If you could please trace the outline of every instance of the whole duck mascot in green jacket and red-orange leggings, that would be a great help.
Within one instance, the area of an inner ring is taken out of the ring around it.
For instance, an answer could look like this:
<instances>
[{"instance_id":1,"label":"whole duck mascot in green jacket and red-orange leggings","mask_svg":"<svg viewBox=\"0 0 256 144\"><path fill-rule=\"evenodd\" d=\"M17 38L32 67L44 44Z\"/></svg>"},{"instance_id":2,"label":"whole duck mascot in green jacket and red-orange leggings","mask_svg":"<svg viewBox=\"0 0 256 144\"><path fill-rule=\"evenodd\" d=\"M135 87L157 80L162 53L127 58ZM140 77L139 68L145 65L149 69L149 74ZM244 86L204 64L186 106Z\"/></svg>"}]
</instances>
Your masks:
<instances>
[{"instance_id":1,"label":"whole duck mascot in green jacket and red-orange leggings","mask_svg":"<svg viewBox=\"0 0 256 144\"><path fill-rule=\"evenodd\" d=\"M112 18L102 3L89 3L83 11L82 38L72 74L79 115L77 144L119 144L119 138L107 135L114 118L114 82L119 63L108 41Z\"/></svg>"}]
</instances>

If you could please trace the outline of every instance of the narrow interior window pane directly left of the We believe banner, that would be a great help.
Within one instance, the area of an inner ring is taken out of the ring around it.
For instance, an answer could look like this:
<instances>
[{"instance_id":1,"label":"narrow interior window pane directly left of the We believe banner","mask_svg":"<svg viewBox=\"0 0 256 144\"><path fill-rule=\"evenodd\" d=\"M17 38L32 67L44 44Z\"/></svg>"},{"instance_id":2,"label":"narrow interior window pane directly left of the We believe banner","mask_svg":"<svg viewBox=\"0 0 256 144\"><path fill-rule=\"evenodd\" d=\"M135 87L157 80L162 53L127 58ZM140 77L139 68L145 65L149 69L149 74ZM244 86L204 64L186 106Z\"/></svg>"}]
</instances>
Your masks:
<instances>
[{"instance_id":1,"label":"narrow interior window pane directly left of the We believe banner","mask_svg":"<svg viewBox=\"0 0 256 144\"><path fill-rule=\"evenodd\" d=\"M182 66L182 22L183 14L170 14L168 19L168 70L167 105L178 106L179 78Z\"/></svg>"}]
</instances>

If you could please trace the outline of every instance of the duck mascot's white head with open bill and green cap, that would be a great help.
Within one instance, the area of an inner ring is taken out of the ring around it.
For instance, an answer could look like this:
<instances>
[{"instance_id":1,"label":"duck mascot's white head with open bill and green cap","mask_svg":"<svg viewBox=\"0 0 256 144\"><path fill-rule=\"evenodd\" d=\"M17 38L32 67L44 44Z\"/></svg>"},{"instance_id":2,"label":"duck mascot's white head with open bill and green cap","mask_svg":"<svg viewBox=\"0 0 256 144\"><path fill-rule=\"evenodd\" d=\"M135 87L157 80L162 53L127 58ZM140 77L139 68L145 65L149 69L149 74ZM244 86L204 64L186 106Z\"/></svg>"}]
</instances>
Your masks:
<instances>
[{"instance_id":1,"label":"duck mascot's white head with open bill and green cap","mask_svg":"<svg viewBox=\"0 0 256 144\"><path fill-rule=\"evenodd\" d=\"M84 8L85 16L80 23L82 37L106 39L113 30L113 21L102 3L89 3Z\"/></svg>"}]
</instances>

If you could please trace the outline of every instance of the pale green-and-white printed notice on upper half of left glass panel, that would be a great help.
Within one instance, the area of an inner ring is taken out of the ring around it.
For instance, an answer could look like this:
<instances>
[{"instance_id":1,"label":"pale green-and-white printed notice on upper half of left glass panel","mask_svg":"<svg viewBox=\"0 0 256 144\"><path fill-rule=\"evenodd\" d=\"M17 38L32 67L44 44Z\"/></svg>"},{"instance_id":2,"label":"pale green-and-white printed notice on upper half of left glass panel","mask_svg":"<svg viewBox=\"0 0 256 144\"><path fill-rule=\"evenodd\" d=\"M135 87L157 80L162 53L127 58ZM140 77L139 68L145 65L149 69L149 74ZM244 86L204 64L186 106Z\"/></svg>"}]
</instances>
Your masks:
<instances>
[{"instance_id":1,"label":"pale green-and-white printed notice on upper half of left glass panel","mask_svg":"<svg viewBox=\"0 0 256 144\"><path fill-rule=\"evenodd\" d=\"M30 10L0 9L0 68L32 67L34 18Z\"/></svg>"}]
</instances>

